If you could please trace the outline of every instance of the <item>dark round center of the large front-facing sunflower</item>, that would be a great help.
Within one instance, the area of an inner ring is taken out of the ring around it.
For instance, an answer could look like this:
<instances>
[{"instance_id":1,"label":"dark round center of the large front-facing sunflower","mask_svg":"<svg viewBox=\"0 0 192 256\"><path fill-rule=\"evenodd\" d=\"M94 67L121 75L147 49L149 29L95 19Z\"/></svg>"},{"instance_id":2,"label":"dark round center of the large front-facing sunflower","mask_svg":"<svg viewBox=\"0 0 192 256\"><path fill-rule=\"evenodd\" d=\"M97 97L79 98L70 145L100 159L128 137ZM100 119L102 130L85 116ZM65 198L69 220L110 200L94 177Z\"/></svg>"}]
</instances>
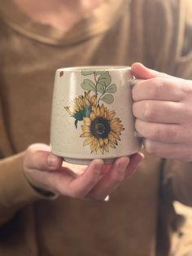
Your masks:
<instances>
[{"instance_id":1,"label":"dark round center of the large front-facing sunflower","mask_svg":"<svg viewBox=\"0 0 192 256\"><path fill-rule=\"evenodd\" d=\"M97 117L90 124L91 134L96 138L107 138L111 131L109 121L103 117Z\"/></svg>"}]
</instances>

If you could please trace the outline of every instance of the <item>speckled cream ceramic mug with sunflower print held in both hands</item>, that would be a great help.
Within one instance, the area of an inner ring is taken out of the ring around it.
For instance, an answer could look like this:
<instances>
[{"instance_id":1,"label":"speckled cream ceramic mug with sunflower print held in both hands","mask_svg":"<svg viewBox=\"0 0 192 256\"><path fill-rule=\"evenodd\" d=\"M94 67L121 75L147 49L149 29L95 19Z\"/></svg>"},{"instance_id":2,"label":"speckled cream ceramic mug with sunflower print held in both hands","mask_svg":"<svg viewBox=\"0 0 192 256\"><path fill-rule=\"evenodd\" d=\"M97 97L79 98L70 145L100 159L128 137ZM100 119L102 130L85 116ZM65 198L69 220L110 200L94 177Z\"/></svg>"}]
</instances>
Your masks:
<instances>
[{"instance_id":1,"label":"speckled cream ceramic mug with sunflower print held in both hands","mask_svg":"<svg viewBox=\"0 0 192 256\"><path fill-rule=\"evenodd\" d=\"M111 163L141 148L134 132L133 76L126 66L59 68L55 73L50 147L64 161Z\"/></svg>"}]
</instances>

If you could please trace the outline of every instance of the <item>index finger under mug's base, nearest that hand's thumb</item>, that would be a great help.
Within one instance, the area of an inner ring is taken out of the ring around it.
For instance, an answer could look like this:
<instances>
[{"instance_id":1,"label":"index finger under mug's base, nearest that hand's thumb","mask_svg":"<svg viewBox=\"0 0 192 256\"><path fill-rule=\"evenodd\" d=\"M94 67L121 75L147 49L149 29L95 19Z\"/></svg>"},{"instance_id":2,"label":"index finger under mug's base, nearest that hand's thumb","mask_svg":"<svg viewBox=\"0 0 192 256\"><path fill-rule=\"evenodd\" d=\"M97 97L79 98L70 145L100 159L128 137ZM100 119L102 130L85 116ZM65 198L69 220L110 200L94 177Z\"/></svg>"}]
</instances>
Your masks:
<instances>
[{"instance_id":1,"label":"index finger under mug's base, nearest that hand's thumb","mask_svg":"<svg viewBox=\"0 0 192 256\"><path fill-rule=\"evenodd\" d=\"M94 188L103 176L103 165L102 159L95 159L87 167L84 174L72 180L68 188L73 197L84 197Z\"/></svg>"}]
</instances>

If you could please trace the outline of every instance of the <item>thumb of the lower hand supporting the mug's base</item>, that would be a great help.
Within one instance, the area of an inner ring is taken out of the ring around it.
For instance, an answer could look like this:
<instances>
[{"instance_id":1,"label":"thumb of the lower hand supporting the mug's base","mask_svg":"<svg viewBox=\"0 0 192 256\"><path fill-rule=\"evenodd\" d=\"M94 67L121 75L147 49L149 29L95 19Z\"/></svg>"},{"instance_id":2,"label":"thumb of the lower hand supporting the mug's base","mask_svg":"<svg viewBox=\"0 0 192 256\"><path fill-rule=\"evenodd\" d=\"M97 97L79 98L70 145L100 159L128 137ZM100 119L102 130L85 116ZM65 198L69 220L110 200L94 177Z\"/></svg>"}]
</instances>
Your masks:
<instances>
[{"instance_id":1,"label":"thumb of the lower hand supporting the mug's base","mask_svg":"<svg viewBox=\"0 0 192 256\"><path fill-rule=\"evenodd\" d=\"M62 157L57 157L47 151L34 151L33 148L28 149L24 160L26 168L33 170L57 170L62 162Z\"/></svg>"}]
</instances>

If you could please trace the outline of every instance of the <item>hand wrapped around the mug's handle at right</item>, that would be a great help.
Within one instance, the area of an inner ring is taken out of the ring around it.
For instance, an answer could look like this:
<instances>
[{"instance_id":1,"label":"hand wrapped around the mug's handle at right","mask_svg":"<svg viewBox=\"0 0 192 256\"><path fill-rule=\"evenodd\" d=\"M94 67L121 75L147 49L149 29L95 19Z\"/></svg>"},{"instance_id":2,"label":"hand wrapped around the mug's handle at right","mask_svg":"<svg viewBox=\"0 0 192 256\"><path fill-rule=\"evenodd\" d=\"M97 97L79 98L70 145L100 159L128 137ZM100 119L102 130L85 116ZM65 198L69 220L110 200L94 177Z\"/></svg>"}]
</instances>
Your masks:
<instances>
[{"instance_id":1,"label":"hand wrapped around the mug's handle at right","mask_svg":"<svg viewBox=\"0 0 192 256\"><path fill-rule=\"evenodd\" d=\"M132 65L135 129L147 152L192 161L192 81Z\"/></svg>"}]
</instances>

